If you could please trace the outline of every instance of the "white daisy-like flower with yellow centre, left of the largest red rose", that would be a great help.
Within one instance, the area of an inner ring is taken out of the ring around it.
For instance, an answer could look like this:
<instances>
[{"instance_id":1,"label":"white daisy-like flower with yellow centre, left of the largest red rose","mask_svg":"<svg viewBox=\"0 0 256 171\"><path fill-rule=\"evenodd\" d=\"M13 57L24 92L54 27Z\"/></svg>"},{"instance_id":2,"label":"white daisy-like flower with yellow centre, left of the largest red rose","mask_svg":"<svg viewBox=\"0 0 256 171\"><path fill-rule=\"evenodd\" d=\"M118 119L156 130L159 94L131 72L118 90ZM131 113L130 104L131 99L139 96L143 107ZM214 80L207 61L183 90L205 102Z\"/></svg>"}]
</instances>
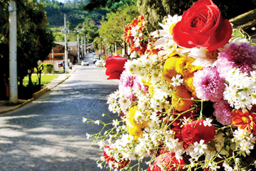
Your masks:
<instances>
[{"instance_id":1,"label":"white daisy-like flower with yellow centre, left of the largest red rose","mask_svg":"<svg viewBox=\"0 0 256 171\"><path fill-rule=\"evenodd\" d=\"M164 44L166 44L167 47L172 46L172 44L174 43L174 40L172 39L172 28L177 22L181 20L181 18L181 16L174 15L172 17L169 15L166 19L164 19L164 24L159 23L163 30L154 31L151 34L151 36L154 37L161 37L155 42L155 48L160 49L164 46Z\"/></svg>"}]
</instances>

